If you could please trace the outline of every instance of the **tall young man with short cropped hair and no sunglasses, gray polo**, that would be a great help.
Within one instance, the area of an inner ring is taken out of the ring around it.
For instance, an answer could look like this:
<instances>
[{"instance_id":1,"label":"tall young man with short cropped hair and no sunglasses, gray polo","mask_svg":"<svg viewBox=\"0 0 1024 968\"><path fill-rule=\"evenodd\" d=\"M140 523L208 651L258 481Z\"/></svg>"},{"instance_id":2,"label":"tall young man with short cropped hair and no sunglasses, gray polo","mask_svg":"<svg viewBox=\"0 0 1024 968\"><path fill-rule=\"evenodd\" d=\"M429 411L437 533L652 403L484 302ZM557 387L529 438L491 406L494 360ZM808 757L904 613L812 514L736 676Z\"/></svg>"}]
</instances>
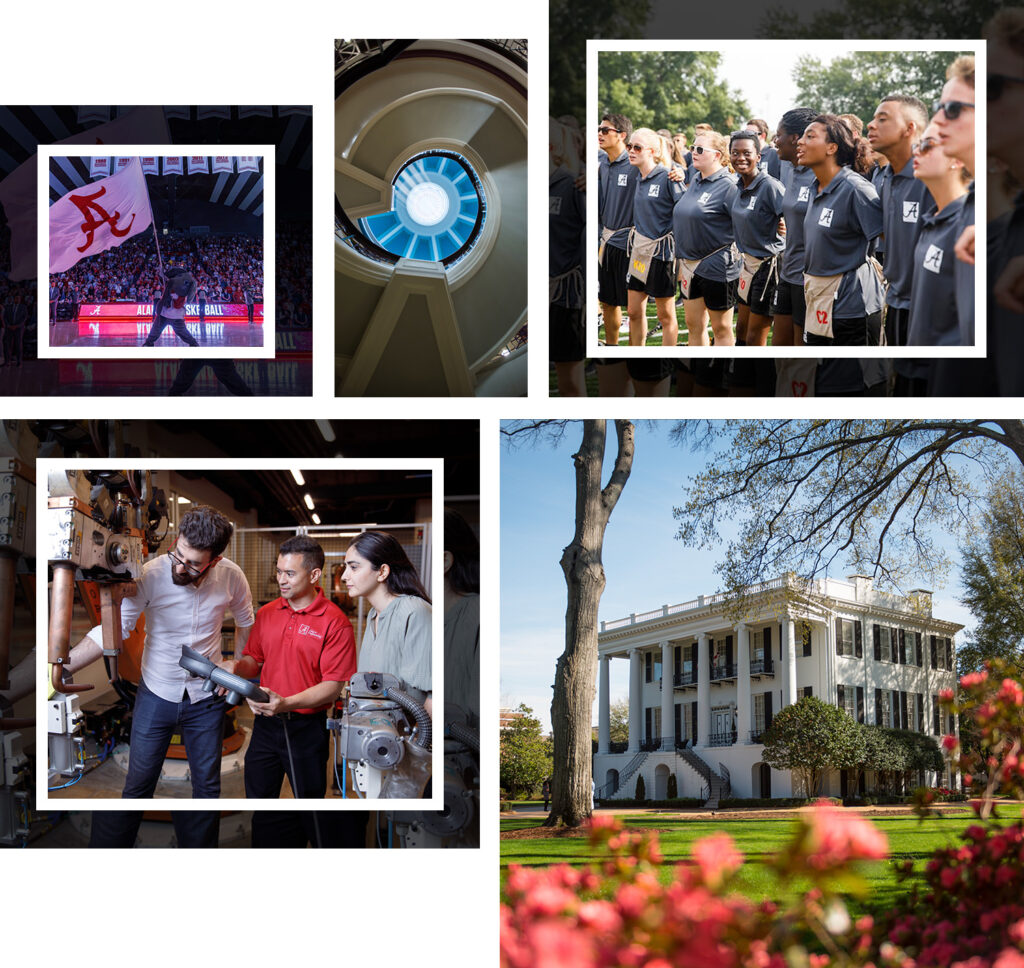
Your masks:
<instances>
[{"instance_id":1,"label":"tall young man with short cropped hair and no sunglasses, gray polo","mask_svg":"<svg viewBox=\"0 0 1024 968\"><path fill-rule=\"evenodd\" d=\"M933 206L924 182L913 176L911 149L921 140L928 124L928 109L916 97L890 94L874 110L867 125L871 151L884 155L889 164L874 181L882 199L882 224L889 257L885 263L886 342L905 346L910 311L910 280L913 276L913 250L921 232L921 216ZM907 391L909 377L906 362L896 361L897 395Z\"/></svg>"}]
</instances>

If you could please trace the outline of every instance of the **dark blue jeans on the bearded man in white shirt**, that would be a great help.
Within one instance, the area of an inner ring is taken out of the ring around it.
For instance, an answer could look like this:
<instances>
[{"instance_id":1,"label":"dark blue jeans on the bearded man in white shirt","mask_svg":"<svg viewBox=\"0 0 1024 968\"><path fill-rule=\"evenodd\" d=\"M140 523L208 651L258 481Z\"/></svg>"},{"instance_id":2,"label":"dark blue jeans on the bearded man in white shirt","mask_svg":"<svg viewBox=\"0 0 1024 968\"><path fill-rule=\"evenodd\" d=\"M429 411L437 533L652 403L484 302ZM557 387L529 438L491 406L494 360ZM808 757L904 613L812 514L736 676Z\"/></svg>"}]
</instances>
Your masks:
<instances>
[{"instance_id":1,"label":"dark blue jeans on the bearded man in white shirt","mask_svg":"<svg viewBox=\"0 0 1024 968\"><path fill-rule=\"evenodd\" d=\"M224 700L211 697L190 703L171 703L139 682L132 713L131 749L123 800L150 799L157 790L160 771L180 731L188 756L193 798L215 800L220 796L220 753ZM216 847L219 814L216 811L172 813L181 847ZM141 811L114 810L93 813L90 847L130 847L135 843Z\"/></svg>"}]
</instances>

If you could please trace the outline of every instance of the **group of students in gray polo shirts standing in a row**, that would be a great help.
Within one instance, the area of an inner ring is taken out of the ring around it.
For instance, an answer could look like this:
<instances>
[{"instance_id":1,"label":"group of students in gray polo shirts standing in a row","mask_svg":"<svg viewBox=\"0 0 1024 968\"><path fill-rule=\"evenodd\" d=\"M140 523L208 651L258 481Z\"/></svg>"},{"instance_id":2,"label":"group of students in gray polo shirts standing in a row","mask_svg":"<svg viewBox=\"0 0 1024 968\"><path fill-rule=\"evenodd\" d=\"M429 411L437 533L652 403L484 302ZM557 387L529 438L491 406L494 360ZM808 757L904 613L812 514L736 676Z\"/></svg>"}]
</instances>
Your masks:
<instances>
[{"instance_id":1,"label":"group of students in gray polo shirts standing in a row","mask_svg":"<svg viewBox=\"0 0 1024 968\"><path fill-rule=\"evenodd\" d=\"M691 346L709 345L709 329L717 346L764 346L769 334L773 346L972 345L974 109L974 58L961 56L931 111L916 97L889 95L866 137L852 115L796 108L773 144L767 124L752 119L729 137L697 125L686 152L682 133L633 130L622 115L605 115L598 128L605 344L618 345L626 306L629 343L644 345L651 298L664 346L678 343L677 304ZM560 305L550 337L563 395L581 391L584 356L583 301L563 281L570 248L557 242L570 238L568 190L553 171L552 303ZM667 393L675 374L684 393L923 395L941 370L940 362L855 355L793 366L605 359L598 374L602 385L637 394ZM628 376L613 376L611 367Z\"/></svg>"}]
</instances>

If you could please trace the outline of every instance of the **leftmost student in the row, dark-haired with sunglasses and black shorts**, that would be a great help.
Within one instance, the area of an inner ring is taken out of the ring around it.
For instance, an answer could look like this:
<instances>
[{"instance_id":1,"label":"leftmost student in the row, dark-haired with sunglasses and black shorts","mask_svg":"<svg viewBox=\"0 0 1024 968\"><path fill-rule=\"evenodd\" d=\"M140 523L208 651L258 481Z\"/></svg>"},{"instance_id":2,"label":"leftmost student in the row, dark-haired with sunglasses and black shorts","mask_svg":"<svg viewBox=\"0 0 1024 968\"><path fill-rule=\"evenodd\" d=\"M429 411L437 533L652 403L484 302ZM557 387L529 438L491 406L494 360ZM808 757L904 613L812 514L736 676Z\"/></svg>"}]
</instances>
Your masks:
<instances>
[{"instance_id":1,"label":"leftmost student in the row, dark-haired with sunglasses and black shorts","mask_svg":"<svg viewBox=\"0 0 1024 968\"><path fill-rule=\"evenodd\" d=\"M633 133L624 115L605 115L597 128L597 143L604 157L598 164L597 217L602 245L597 269L597 298L604 317L604 341L618 345L623 309L627 302L629 271L626 245L633 227L633 196L637 170L630 164L626 142Z\"/></svg>"}]
</instances>

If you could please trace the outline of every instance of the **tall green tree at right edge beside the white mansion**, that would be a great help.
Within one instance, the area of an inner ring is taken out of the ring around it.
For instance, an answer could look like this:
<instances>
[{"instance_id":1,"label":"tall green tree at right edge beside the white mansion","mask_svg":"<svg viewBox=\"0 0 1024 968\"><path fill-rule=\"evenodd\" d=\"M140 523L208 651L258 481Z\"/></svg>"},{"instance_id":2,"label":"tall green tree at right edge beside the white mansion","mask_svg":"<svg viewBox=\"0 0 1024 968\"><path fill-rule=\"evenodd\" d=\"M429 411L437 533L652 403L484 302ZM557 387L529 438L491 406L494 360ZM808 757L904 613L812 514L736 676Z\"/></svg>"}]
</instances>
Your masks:
<instances>
[{"instance_id":1,"label":"tall green tree at right edge beside the white mansion","mask_svg":"<svg viewBox=\"0 0 1024 968\"><path fill-rule=\"evenodd\" d=\"M963 548L961 601L977 620L956 650L959 674L986 659L1024 666L1024 480L998 478L981 519Z\"/></svg>"}]
</instances>

